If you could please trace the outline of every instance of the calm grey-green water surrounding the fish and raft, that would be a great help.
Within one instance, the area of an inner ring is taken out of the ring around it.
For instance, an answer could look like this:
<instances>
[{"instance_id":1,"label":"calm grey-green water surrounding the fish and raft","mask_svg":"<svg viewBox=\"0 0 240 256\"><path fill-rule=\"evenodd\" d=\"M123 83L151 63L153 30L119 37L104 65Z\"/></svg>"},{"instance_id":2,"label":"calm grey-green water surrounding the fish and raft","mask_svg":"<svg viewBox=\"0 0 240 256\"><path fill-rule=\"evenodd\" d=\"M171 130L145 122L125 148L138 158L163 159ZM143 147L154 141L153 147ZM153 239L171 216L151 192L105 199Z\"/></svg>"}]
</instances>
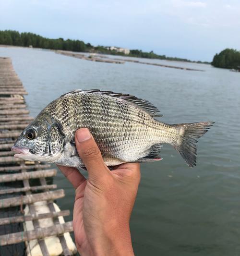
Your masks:
<instances>
[{"instance_id":1,"label":"calm grey-green water surrounding the fish and raft","mask_svg":"<svg viewBox=\"0 0 240 256\"><path fill-rule=\"evenodd\" d=\"M132 242L138 256L240 255L240 73L158 60L147 61L205 72L99 63L37 49L0 48L0 56L12 58L33 116L72 89L100 88L151 100L163 122L215 121L198 143L194 169L166 145L162 161L142 165ZM60 172L54 183L66 193L58 205L72 210L70 183Z\"/></svg>"}]
</instances>

